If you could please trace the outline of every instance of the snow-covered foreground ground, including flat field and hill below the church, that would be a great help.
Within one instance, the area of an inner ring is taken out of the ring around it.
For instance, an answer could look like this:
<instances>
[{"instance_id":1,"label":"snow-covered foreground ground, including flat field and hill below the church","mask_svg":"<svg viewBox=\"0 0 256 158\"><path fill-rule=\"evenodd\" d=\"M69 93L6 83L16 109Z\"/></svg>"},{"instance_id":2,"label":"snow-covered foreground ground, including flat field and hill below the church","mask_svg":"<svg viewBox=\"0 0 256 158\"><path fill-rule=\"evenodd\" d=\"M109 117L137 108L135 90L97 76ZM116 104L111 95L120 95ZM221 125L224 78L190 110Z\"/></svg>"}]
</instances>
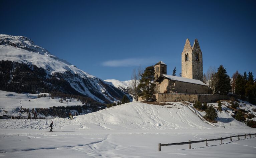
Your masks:
<instances>
[{"instance_id":1,"label":"snow-covered foreground ground, including flat field and hill below the church","mask_svg":"<svg viewBox=\"0 0 256 158\"><path fill-rule=\"evenodd\" d=\"M0 119L0 154L3 157L255 157L255 135L191 145L162 147L175 143L256 133L256 130L225 115L226 128L213 127L199 119L182 102L152 105L132 102L86 115L67 118ZM226 113L223 111L223 113ZM228 112L227 112L228 113ZM224 116L224 115L221 115ZM53 131L49 124L53 121ZM231 122L231 126L229 125ZM216 152L218 151L218 152ZM202 154L203 153L203 154Z\"/></svg>"}]
</instances>

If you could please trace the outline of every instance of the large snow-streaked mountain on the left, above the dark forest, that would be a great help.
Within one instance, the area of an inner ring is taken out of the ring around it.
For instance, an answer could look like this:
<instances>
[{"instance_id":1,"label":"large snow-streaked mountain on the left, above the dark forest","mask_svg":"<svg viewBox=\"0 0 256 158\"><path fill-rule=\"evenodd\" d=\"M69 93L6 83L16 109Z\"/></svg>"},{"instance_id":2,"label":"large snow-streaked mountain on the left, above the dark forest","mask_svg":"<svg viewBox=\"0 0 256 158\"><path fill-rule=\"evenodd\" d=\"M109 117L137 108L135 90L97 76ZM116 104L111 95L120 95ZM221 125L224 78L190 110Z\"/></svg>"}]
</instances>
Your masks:
<instances>
[{"instance_id":1,"label":"large snow-streaked mountain on the left, above the dark forest","mask_svg":"<svg viewBox=\"0 0 256 158\"><path fill-rule=\"evenodd\" d=\"M69 87L66 88L69 89L68 91L70 91L71 87L79 94L88 96L102 103L121 100L122 96L124 95L123 92L114 86L106 84L103 80L78 69L76 66L68 63L67 61L51 55L49 51L35 45L34 42L27 37L0 34L0 61L25 63L32 71L34 69L33 66L43 68L46 73L45 77L42 75L43 78L51 79L54 77L54 83L56 79L64 79L68 84L70 84L70 86L68 85ZM12 72L15 71L16 64L13 65L13 70L8 72L10 73L11 78L9 79L8 77L8 81L6 80L5 83L2 83L5 84L5 87L10 87L9 84L12 83ZM9 70L9 68L6 69L6 71L7 70ZM6 72L1 73L3 76L6 74ZM47 84L47 86L55 85L53 82L45 82L47 81L44 81L42 84ZM56 90L56 88L54 90ZM61 87L59 90L65 91L65 88ZM37 92L47 91L39 90Z\"/></svg>"}]
</instances>

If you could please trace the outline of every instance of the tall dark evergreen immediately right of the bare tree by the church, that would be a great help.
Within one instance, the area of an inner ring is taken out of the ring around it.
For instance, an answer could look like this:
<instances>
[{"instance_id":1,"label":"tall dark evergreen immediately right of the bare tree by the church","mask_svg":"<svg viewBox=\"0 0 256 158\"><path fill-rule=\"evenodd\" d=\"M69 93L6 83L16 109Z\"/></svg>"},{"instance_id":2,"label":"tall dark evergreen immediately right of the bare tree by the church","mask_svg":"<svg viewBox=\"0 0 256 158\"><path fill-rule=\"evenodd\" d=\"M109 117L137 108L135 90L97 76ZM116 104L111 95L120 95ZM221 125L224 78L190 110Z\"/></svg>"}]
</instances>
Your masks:
<instances>
[{"instance_id":1,"label":"tall dark evergreen immediately right of the bare tree by the church","mask_svg":"<svg viewBox=\"0 0 256 158\"><path fill-rule=\"evenodd\" d=\"M220 95L226 95L231 90L230 77L227 74L226 69L220 65L218 72L216 73L219 81L217 84L217 89L219 90Z\"/></svg>"}]
</instances>

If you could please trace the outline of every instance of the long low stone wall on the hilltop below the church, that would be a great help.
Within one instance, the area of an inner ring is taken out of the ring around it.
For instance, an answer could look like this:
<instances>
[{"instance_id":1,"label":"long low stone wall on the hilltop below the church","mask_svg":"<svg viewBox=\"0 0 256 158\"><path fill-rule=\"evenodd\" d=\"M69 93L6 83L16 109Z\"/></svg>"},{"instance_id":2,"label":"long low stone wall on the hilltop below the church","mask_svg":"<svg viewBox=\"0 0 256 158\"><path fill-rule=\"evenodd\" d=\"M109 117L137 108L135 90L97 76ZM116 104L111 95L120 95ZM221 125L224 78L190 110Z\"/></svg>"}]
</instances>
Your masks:
<instances>
[{"instance_id":1,"label":"long low stone wall on the hilltop below the church","mask_svg":"<svg viewBox=\"0 0 256 158\"><path fill-rule=\"evenodd\" d=\"M229 95L212 95L212 94L175 94L175 93L156 93L154 99L158 102L166 101L201 101L216 102L218 100L229 99Z\"/></svg>"}]
</instances>

